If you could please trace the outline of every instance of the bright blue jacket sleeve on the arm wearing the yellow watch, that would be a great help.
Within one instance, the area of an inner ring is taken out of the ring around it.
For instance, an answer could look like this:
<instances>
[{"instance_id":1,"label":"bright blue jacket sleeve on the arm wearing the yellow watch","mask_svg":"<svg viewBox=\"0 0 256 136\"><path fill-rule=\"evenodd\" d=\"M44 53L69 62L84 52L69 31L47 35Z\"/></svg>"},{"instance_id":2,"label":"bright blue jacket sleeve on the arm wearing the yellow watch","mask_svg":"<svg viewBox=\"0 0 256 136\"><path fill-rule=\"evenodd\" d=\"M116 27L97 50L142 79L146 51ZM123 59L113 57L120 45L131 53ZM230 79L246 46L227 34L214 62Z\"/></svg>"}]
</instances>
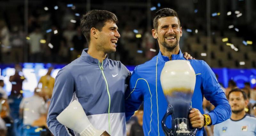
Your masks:
<instances>
[{"instance_id":1,"label":"bright blue jacket sleeve on the arm wearing the yellow watch","mask_svg":"<svg viewBox=\"0 0 256 136\"><path fill-rule=\"evenodd\" d=\"M212 125L215 125L230 118L231 107L209 65L202 61L201 68L204 97L215 106L215 109L208 113L211 116Z\"/></svg>"}]
</instances>

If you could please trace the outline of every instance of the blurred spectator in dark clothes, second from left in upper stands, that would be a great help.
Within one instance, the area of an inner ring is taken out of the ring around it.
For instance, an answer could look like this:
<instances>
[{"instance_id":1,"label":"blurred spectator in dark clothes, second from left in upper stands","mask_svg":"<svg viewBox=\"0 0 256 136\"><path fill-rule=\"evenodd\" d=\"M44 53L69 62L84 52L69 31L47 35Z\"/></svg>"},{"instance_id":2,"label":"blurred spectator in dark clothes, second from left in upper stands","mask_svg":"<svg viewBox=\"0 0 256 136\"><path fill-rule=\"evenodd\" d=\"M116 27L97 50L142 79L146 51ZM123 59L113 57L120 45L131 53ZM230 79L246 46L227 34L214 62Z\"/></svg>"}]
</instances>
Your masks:
<instances>
[{"instance_id":1,"label":"blurred spectator in dark clothes, second from left in upper stands","mask_svg":"<svg viewBox=\"0 0 256 136\"><path fill-rule=\"evenodd\" d=\"M18 26L14 26L10 37L11 60L12 62L18 63L23 62L23 47L25 45L25 36L23 32L19 30Z\"/></svg>"}]
</instances>

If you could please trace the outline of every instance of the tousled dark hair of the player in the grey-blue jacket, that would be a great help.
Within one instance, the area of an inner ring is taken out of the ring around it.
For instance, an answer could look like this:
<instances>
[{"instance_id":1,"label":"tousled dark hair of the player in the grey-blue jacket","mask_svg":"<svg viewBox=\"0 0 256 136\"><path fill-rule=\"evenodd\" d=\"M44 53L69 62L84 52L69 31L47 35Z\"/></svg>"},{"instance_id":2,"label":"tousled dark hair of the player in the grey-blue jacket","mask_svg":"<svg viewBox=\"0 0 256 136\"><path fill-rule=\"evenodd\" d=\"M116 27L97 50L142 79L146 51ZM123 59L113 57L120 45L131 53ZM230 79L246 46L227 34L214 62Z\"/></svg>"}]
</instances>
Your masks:
<instances>
[{"instance_id":1,"label":"tousled dark hair of the player in the grey-blue jacket","mask_svg":"<svg viewBox=\"0 0 256 136\"><path fill-rule=\"evenodd\" d=\"M101 31L102 27L104 27L105 23L108 21L118 23L116 15L109 11L92 10L83 15L80 26L88 43L90 43L91 40L91 28L94 27Z\"/></svg>"}]
</instances>

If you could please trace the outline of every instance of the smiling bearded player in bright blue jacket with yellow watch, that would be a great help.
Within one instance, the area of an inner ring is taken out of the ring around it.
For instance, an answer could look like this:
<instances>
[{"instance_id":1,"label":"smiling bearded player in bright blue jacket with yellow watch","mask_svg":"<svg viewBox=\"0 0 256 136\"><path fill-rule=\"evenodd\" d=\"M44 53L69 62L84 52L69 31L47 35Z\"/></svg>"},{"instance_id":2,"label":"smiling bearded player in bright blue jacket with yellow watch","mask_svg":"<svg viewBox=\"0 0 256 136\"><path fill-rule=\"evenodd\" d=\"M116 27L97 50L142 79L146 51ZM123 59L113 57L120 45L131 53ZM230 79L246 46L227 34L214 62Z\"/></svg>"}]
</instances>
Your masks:
<instances>
[{"instance_id":1,"label":"smiling bearded player in bright blue jacket with yellow watch","mask_svg":"<svg viewBox=\"0 0 256 136\"><path fill-rule=\"evenodd\" d=\"M169 8L156 12L153 26L152 35L157 39L160 51L150 61L134 69L130 79L130 89L125 92L125 116L126 120L129 120L144 102L144 135L164 136L161 121L167 109L167 102L161 87L160 74L166 61L185 60L179 47L182 27L176 11ZM202 60L188 61L196 73L196 86L192 97L193 109L190 111L189 119L192 127L199 128L196 136L202 136L204 126L215 125L230 118L231 108L208 64ZM204 114L202 108L203 97L215 106L215 109L208 114ZM206 118L209 118L210 122L206 122ZM170 128L170 116L166 123L169 123L167 126Z\"/></svg>"}]
</instances>

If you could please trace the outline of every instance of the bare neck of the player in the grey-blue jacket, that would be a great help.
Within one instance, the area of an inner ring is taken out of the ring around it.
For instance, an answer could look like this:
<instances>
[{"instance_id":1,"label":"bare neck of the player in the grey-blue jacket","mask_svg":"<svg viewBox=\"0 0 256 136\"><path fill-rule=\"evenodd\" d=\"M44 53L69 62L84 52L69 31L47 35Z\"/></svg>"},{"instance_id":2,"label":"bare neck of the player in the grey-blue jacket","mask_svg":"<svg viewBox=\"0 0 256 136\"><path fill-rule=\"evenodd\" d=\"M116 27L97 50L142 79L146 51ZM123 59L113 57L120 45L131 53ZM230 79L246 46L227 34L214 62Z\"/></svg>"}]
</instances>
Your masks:
<instances>
[{"instance_id":1,"label":"bare neck of the player in the grey-blue jacket","mask_svg":"<svg viewBox=\"0 0 256 136\"><path fill-rule=\"evenodd\" d=\"M98 59L100 62L102 62L106 57L107 54L103 51L97 50L94 46L90 45L88 48L87 53L95 59Z\"/></svg>"}]
</instances>

